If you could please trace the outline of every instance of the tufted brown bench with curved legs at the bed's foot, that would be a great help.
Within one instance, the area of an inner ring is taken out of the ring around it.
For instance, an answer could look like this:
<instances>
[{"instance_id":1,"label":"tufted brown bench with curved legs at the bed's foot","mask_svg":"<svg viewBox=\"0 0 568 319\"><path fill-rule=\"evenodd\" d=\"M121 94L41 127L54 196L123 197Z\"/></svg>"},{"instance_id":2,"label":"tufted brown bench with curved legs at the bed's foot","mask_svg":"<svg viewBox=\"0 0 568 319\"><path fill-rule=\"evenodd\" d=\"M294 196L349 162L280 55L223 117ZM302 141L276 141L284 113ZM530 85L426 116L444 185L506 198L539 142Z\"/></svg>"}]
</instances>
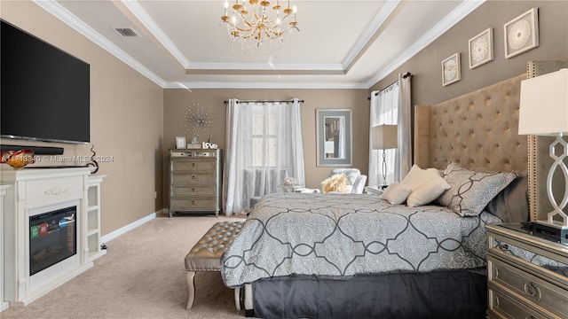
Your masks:
<instances>
[{"instance_id":1,"label":"tufted brown bench with curved legs at the bed's foot","mask_svg":"<svg viewBox=\"0 0 568 319\"><path fill-rule=\"evenodd\" d=\"M193 278L197 271L220 271L221 256L241 231L244 222L217 222L203 237L193 245L185 255L185 270L187 270L187 285L189 299L186 309L193 307L195 298L195 283ZM241 310L240 290L235 289L235 305Z\"/></svg>"}]
</instances>

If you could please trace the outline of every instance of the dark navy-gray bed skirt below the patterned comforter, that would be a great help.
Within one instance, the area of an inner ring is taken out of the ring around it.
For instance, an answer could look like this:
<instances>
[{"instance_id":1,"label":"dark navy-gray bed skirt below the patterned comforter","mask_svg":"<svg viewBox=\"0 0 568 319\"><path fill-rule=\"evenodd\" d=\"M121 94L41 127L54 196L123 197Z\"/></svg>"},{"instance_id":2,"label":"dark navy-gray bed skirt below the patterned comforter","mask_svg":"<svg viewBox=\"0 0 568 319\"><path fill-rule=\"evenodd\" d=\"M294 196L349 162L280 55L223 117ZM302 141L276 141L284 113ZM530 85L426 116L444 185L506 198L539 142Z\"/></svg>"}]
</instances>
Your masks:
<instances>
[{"instance_id":1,"label":"dark navy-gray bed skirt below the patterned comforter","mask_svg":"<svg viewBox=\"0 0 568 319\"><path fill-rule=\"evenodd\" d=\"M465 270L286 276L253 283L260 318L485 318L486 276Z\"/></svg>"}]
</instances>

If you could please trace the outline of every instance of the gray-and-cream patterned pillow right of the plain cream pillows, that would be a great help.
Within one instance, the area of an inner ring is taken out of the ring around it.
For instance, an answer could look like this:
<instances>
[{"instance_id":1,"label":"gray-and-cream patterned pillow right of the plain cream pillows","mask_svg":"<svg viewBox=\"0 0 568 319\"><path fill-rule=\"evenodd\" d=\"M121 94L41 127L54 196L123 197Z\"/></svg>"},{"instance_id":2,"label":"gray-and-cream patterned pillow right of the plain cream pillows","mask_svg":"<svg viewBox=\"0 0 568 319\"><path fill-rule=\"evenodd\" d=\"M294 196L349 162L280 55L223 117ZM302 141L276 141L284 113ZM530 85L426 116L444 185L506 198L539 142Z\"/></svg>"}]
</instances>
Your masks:
<instances>
[{"instance_id":1,"label":"gray-and-cream patterned pillow right of the plain cream pillows","mask_svg":"<svg viewBox=\"0 0 568 319\"><path fill-rule=\"evenodd\" d=\"M476 216L515 178L515 173L480 173L450 163L444 179L452 188L438 202L461 216Z\"/></svg>"}]
</instances>

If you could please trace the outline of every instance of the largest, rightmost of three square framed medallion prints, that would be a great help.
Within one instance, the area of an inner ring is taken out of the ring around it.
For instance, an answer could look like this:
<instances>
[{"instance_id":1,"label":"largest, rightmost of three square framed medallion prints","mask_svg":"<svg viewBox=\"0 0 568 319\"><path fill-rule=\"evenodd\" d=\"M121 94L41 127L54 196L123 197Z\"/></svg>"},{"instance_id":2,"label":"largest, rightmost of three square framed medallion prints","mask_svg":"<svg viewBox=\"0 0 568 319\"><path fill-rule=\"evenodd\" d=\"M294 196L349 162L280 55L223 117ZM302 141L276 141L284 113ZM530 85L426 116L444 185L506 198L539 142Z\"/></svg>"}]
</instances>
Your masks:
<instances>
[{"instance_id":1,"label":"largest, rightmost of three square framed medallion prints","mask_svg":"<svg viewBox=\"0 0 568 319\"><path fill-rule=\"evenodd\" d=\"M505 34L505 58L539 46L539 9L533 8L503 26Z\"/></svg>"}]
</instances>

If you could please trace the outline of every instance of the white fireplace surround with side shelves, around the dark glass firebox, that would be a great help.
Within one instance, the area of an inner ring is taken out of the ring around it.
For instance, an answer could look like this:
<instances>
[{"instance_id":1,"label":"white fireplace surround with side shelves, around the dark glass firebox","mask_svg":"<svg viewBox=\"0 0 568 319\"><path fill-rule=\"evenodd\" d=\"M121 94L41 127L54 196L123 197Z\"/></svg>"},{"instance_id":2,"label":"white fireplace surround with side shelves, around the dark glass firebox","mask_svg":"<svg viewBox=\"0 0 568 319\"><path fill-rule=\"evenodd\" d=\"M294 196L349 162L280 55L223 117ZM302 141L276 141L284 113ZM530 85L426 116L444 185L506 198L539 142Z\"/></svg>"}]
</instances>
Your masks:
<instances>
[{"instance_id":1,"label":"white fireplace surround with side shelves, around the dark glass firebox","mask_svg":"<svg viewBox=\"0 0 568 319\"><path fill-rule=\"evenodd\" d=\"M4 197L4 300L26 306L52 289L93 266L100 251L99 183L104 175L91 175L90 167L33 168L0 171ZM29 273L29 217L67 206L76 206L76 254L37 272ZM91 220L91 222L90 222ZM94 228L94 230L93 230ZM95 235L93 235L95 234ZM93 243L95 243L93 245Z\"/></svg>"}]
</instances>

